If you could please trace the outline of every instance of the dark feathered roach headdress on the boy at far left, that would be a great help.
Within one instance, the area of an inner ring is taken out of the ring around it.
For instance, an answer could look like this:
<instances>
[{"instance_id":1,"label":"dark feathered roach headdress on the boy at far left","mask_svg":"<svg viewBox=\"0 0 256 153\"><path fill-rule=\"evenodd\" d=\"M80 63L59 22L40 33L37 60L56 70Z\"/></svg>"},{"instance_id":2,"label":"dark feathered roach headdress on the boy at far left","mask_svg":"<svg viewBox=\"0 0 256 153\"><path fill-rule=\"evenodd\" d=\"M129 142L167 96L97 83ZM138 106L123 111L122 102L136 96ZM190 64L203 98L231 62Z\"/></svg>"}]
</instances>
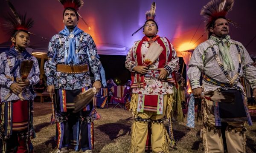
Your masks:
<instances>
[{"instance_id":1,"label":"dark feathered roach headdress on the boy at far left","mask_svg":"<svg viewBox=\"0 0 256 153\"><path fill-rule=\"evenodd\" d=\"M26 17L26 14L20 15L17 13L15 7L12 5L12 3L9 0L6 0L8 3L12 14L8 14L6 18L6 23L2 24L2 27L6 28L8 34L12 35L17 30L28 30L31 28L34 24L34 21L32 18Z\"/></svg>"}]
</instances>

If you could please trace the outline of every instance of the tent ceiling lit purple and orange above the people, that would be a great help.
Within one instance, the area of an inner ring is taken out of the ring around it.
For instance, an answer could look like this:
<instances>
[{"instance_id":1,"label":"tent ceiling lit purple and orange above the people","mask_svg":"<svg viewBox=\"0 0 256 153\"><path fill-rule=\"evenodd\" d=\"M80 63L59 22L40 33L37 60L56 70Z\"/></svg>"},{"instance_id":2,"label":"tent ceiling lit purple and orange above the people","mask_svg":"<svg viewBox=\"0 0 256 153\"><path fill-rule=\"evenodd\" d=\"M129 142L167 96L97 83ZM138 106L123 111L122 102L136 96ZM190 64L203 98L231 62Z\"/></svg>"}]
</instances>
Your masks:
<instances>
[{"instance_id":1,"label":"tent ceiling lit purple and orange above the people","mask_svg":"<svg viewBox=\"0 0 256 153\"><path fill-rule=\"evenodd\" d=\"M31 32L48 39L32 36L31 47L37 51L46 51L51 37L64 27L61 3L58 0L11 1L20 13L27 12L29 17L34 18L35 25ZM169 38L177 51L193 49L206 40L206 36L201 37L204 34L204 23L201 22L199 13L208 0L155 1L159 35ZM133 42L143 37L142 31L133 37L131 34L143 25L145 11L150 8L151 2L152 0L85 0L79 14L87 21L91 30L88 30L82 20L79 21L79 28L93 37L99 54L125 55ZM228 14L228 18L240 25L237 29L230 27L231 38L245 46L251 42L246 46L250 54L256 54L256 39L253 40L256 36L255 5L255 0L236 0L233 11ZM1 0L0 23L4 22L7 12L10 12L9 7L5 0ZM0 28L0 34L0 46L9 45L9 37L4 29Z\"/></svg>"}]
</instances>

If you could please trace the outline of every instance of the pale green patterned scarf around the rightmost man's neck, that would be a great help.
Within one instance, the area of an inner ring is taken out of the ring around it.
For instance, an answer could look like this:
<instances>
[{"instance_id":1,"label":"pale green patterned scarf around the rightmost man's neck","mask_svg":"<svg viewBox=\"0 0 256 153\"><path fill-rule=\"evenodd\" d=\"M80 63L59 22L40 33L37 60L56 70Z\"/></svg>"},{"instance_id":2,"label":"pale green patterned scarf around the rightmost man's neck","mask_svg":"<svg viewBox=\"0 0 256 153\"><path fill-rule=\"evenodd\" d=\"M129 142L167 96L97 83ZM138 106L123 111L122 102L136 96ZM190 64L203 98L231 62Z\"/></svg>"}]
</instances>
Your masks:
<instances>
[{"instance_id":1,"label":"pale green patterned scarf around the rightmost man's neck","mask_svg":"<svg viewBox=\"0 0 256 153\"><path fill-rule=\"evenodd\" d=\"M235 67L234 67L230 52L229 52L230 36L227 35L223 39L219 39L218 37L215 37L215 36L210 36L209 40L213 40L213 41L217 42L218 48L220 50L220 55L223 60L224 70L233 71L235 69Z\"/></svg>"}]
</instances>

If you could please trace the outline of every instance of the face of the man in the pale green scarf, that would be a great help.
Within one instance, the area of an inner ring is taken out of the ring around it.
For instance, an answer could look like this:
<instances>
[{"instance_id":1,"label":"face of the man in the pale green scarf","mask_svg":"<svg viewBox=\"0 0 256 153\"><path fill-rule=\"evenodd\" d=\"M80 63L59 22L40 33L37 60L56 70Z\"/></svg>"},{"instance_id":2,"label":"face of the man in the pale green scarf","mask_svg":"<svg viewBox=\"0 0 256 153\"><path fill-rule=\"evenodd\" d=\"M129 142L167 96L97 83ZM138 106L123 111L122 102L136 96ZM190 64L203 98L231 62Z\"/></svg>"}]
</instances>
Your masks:
<instances>
[{"instance_id":1,"label":"face of the man in the pale green scarf","mask_svg":"<svg viewBox=\"0 0 256 153\"><path fill-rule=\"evenodd\" d=\"M210 32L218 37L226 37L229 34L229 25L227 20L223 18L217 19L214 27L210 28Z\"/></svg>"}]
</instances>

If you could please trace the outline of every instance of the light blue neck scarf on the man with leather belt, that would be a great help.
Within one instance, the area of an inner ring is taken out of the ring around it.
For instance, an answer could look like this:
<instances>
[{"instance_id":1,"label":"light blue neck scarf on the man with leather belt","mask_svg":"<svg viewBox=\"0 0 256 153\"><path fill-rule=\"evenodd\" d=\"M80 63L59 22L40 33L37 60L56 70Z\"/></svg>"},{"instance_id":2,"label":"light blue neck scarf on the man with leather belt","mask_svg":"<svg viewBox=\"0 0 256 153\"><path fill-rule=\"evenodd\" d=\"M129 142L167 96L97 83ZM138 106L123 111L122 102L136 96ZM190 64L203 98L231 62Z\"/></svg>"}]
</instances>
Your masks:
<instances>
[{"instance_id":1,"label":"light blue neck scarf on the man with leather belt","mask_svg":"<svg viewBox=\"0 0 256 153\"><path fill-rule=\"evenodd\" d=\"M73 62L74 64L79 64L78 55L76 55L76 35L83 32L81 29L79 29L77 26L74 28L74 30L70 33L70 30L65 26L63 30L59 32L59 34L63 34L64 36L70 36L70 34L73 34L74 37L69 37L69 45L68 45L68 51L67 51L67 58L65 58L65 64L70 64L70 62Z\"/></svg>"}]
</instances>

